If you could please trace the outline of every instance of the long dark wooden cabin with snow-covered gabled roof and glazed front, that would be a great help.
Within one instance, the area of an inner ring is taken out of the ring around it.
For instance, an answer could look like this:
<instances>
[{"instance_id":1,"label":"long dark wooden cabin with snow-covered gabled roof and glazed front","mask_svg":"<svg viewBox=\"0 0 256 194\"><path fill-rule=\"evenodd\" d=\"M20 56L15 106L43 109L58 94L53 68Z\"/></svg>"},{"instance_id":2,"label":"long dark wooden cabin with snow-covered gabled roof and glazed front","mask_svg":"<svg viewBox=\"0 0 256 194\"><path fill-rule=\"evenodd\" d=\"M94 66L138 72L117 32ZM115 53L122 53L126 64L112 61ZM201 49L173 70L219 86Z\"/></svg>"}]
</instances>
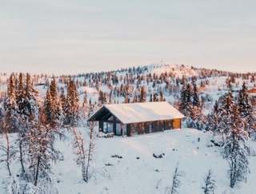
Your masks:
<instances>
[{"instance_id":1,"label":"long dark wooden cabin with snow-covered gabled roof and glazed front","mask_svg":"<svg viewBox=\"0 0 256 194\"><path fill-rule=\"evenodd\" d=\"M102 105L87 121L98 121L98 131L116 136L181 129L184 115L166 101Z\"/></svg>"}]
</instances>

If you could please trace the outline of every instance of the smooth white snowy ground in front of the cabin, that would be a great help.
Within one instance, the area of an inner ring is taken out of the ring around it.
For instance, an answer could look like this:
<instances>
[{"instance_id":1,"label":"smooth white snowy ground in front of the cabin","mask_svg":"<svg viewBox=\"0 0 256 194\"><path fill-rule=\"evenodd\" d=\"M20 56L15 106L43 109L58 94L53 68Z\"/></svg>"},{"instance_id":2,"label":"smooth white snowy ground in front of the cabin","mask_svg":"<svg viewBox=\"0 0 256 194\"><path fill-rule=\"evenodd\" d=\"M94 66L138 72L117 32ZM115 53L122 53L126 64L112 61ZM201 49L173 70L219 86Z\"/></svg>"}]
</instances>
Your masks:
<instances>
[{"instance_id":1,"label":"smooth white snowy ground in front of the cabin","mask_svg":"<svg viewBox=\"0 0 256 194\"><path fill-rule=\"evenodd\" d=\"M199 140L199 139L200 140ZM59 142L63 161L54 167L59 193L166 193L174 168L183 172L179 193L202 193L206 172L212 169L215 193L254 193L255 156L250 158L251 174L247 184L231 189L228 164L220 148L212 146L212 135L196 129L170 130L136 137L96 138L94 163L89 183L82 182L80 168L74 163L70 141ZM254 142L250 142L255 147ZM161 159L153 153L164 153ZM122 158L112 157L114 155ZM111 165L106 165L111 164Z\"/></svg>"}]
</instances>

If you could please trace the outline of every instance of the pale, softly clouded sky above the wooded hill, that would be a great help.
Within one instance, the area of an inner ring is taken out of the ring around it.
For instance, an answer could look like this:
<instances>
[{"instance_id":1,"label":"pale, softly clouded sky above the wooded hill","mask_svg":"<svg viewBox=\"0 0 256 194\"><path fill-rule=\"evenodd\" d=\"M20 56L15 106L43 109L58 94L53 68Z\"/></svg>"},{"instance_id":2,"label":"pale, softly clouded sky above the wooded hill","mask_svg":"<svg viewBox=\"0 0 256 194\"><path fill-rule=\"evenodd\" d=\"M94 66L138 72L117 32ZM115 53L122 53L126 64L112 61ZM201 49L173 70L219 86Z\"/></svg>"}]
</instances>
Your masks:
<instances>
[{"instance_id":1,"label":"pale, softly clouded sky above the wooded hill","mask_svg":"<svg viewBox=\"0 0 256 194\"><path fill-rule=\"evenodd\" d=\"M160 61L256 72L255 10L254 0L0 0L0 72Z\"/></svg>"}]
</instances>

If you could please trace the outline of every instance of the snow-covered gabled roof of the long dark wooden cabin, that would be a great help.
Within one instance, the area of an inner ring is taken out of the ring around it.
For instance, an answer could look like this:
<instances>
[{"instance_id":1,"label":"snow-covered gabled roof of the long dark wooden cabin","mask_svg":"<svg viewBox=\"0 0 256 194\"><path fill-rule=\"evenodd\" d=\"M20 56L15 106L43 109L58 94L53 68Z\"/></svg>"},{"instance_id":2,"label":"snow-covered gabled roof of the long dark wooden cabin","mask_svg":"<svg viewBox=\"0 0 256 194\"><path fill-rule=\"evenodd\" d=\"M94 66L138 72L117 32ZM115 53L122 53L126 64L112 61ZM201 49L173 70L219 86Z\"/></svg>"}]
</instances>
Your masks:
<instances>
[{"instance_id":1,"label":"snow-covered gabled roof of the long dark wooden cabin","mask_svg":"<svg viewBox=\"0 0 256 194\"><path fill-rule=\"evenodd\" d=\"M122 124L162 121L184 117L178 109L175 109L168 102L161 101L103 105L88 119L88 121L91 121L108 111L117 117Z\"/></svg>"}]
</instances>

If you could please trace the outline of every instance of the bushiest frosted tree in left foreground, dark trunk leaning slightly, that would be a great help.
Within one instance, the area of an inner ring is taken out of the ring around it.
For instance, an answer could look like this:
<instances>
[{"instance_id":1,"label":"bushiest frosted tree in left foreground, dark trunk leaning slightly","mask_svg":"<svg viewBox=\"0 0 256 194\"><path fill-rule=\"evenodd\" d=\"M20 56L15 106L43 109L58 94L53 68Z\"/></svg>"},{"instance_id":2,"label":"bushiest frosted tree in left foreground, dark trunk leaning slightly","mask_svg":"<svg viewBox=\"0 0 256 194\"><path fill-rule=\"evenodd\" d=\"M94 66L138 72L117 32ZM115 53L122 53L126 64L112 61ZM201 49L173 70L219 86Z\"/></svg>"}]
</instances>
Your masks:
<instances>
[{"instance_id":1,"label":"bushiest frosted tree in left foreground, dark trunk leaning slightly","mask_svg":"<svg viewBox=\"0 0 256 194\"><path fill-rule=\"evenodd\" d=\"M54 139L59 135L58 130L46 125L46 115L40 113L38 123L30 125L26 135L29 142L24 144L26 147L26 162L29 163L27 172L29 181L38 186L50 184L50 162L58 160L58 152L54 148ZM46 181L44 181L46 180Z\"/></svg>"}]
</instances>

